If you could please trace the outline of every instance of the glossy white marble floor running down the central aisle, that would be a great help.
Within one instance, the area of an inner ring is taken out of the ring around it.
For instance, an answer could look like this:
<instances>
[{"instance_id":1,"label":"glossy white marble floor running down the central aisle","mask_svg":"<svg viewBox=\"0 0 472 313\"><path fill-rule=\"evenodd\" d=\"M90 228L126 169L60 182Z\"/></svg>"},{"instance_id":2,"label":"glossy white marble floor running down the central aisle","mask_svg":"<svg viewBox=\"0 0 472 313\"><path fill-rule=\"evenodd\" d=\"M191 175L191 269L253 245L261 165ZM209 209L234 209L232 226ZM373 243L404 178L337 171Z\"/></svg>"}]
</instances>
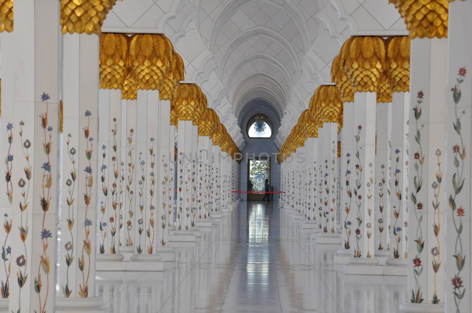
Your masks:
<instances>
[{"instance_id":1,"label":"glossy white marble floor running down the central aisle","mask_svg":"<svg viewBox=\"0 0 472 313\"><path fill-rule=\"evenodd\" d=\"M406 277L344 275L277 202L240 202L164 272L98 272L106 312L395 313Z\"/></svg>"}]
</instances>

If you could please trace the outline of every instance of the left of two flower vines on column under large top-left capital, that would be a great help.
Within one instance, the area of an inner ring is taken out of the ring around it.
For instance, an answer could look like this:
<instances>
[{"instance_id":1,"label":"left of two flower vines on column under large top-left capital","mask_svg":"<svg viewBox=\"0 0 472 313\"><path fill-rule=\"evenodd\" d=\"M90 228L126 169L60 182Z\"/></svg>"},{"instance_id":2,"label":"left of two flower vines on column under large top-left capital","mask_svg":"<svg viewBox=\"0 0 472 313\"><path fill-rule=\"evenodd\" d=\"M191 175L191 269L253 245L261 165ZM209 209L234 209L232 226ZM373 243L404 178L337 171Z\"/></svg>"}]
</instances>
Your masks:
<instances>
[{"instance_id":1,"label":"left of two flower vines on column under large top-left capital","mask_svg":"<svg viewBox=\"0 0 472 313\"><path fill-rule=\"evenodd\" d=\"M66 271L66 285L62 286L62 294L64 297L68 298L72 294L72 289L69 286L69 268L74 262L74 236L72 229L74 228L74 223L75 223L75 211L74 211L74 191L76 189L76 178L77 178L77 169L76 169L76 149L75 148L70 148L70 140L72 138L72 135L68 135L67 138L67 154L69 156L70 163L72 165L72 171L70 171L70 181L66 182L67 185L67 229L69 230L69 247L70 249L66 249L66 265L67 265L67 271Z\"/></svg>"}]
</instances>

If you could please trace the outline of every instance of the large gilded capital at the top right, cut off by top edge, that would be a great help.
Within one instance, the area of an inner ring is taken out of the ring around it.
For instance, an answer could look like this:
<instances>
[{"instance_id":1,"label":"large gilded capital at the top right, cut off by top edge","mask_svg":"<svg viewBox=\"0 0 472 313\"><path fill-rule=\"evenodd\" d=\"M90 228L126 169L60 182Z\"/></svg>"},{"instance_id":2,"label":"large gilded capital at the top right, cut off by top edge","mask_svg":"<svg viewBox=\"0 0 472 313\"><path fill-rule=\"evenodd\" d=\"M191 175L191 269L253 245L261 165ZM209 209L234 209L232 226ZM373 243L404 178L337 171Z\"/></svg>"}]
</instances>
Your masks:
<instances>
[{"instance_id":1,"label":"large gilded capital at the top right, cut off by top edge","mask_svg":"<svg viewBox=\"0 0 472 313\"><path fill-rule=\"evenodd\" d=\"M447 13L453 0L388 0L405 19L410 38L447 37Z\"/></svg>"}]
</instances>

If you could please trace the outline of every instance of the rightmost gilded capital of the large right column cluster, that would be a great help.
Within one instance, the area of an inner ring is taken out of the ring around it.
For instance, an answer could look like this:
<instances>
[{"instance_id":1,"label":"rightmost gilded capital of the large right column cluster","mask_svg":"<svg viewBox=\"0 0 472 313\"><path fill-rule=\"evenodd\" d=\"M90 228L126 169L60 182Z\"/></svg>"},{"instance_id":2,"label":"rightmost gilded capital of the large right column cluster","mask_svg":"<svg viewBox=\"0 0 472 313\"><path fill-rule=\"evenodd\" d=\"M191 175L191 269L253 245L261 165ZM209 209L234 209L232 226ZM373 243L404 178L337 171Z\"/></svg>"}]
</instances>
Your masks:
<instances>
[{"instance_id":1,"label":"rightmost gilded capital of the large right column cluster","mask_svg":"<svg viewBox=\"0 0 472 313\"><path fill-rule=\"evenodd\" d=\"M408 36L390 37L386 41L386 71L392 91L410 91L410 44Z\"/></svg>"}]
</instances>

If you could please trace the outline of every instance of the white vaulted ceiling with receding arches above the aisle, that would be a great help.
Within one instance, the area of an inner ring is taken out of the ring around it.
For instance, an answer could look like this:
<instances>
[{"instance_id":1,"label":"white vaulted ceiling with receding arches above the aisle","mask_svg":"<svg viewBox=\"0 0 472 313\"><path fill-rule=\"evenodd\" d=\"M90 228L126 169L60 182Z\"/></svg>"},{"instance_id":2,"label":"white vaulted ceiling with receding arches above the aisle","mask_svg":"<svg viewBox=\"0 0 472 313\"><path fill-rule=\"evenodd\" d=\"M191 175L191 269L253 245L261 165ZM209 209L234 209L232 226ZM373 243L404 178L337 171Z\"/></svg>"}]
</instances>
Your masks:
<instances>
[{"instance_id":1,"label":"white vaulted ceiling with receding arches above the aisle","mask_svg":"<svg viewBox=\"0 0 472 313\"><path fill-rule=\"evenodd\" d=\"M349 36L407 34L388 0L125 0L103 31L169 37L239 148L246 104L272 106L280 145Z\"/></svg>"}]
</instances>

